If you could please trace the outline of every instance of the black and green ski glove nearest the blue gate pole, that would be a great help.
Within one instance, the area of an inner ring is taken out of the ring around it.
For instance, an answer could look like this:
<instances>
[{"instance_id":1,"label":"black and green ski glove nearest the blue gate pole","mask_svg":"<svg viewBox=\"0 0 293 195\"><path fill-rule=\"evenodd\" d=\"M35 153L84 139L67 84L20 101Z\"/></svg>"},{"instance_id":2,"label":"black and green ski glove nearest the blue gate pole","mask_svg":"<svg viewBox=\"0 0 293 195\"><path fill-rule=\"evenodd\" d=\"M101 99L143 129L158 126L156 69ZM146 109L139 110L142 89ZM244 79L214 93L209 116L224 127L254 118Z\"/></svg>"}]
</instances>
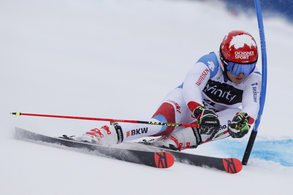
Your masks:
<instances>
[{"instance_id":1,"label":"black and green ski glove nearest the blue gate pole","mask_svg":"<svg viewBox=\"0 0 293 195\"><path fill-rule=\"evenodd\" d=\"M251 125L248 124L249 116L245 112L236 114L228 124L228 132L232 138L241 138L248 133Z\"/></svg>"}]
</instances>

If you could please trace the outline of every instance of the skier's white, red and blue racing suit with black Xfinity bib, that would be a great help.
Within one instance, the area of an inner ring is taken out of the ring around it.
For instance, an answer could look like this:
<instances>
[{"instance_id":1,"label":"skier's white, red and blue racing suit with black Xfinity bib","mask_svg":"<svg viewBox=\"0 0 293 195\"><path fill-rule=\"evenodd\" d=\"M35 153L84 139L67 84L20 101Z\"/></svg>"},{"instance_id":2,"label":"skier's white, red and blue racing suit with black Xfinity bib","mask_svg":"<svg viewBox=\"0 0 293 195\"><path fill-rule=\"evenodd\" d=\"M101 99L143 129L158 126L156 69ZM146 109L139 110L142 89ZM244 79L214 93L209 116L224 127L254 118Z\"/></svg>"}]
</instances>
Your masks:
<instances>
[{"instance_id":1,"label":"skier's white, red and blue racing suit with black Xfinity bib","mask_svg":"<svg viewBox=\"0 0 293 195\"><path fill-rule=\"evenodd\" d=\"M253 124L259 110L260 72L255 67L253 73L246 76L241 84L234 84L224 77L220 63L219 52L202 56L189 70L183 84L167 94L152 118L133 120L197 124L196 119L192 116L193 110L198 106L205 106L213 110L220 121L220 130L214 140L229 136L228 122L239 112L248 113L249 123ZM168 134L170 137L176 134L177 138L181 137L178 140L180 143L182 142L181 147L189 148L189 146L207 142L210 137L210 135L201 134L199 140L197 132L194 132L195 130L191 127L124 122L119 122L119 125L123 132L123 141ZM166 139L166 136L163 138Z\"/></svg>"}]
</instances>

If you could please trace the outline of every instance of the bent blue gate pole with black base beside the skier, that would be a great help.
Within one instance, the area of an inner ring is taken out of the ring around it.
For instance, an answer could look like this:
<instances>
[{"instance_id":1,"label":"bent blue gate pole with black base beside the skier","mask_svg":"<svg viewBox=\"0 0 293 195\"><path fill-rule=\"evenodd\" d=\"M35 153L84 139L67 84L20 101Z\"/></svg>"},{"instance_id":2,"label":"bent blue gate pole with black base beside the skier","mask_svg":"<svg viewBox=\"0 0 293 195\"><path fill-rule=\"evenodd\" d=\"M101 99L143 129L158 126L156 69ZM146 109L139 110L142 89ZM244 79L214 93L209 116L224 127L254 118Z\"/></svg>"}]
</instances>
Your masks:
<instances>
[{"instance_id":1,"label":"bent blue gate pole with black base beside the skier","mask_svg":"<svg viewBox=\"0 0 293 195\"><path fill-rule=\"evenodd\" d=\"M259 35L260 35L260 47L261 47L261 57L262 57L262 83L261 83L261 92L260 92L260 108L258 111L258 116L255 120L253 130L251 131L245 153L242 159L242 165L247 165L256 134L258 131L258 126L261 120L261 117L263 115L263 107L265 104L265 94L266 94L266 87L267 87L267 49L265 46L265 32L263 29L263 16L261 14L261 8L260 8L260 0L254 0L255 2L255 9L256 9L256 15L258 20L258 29L259 29Z\"/></svg>"}]
</instances>

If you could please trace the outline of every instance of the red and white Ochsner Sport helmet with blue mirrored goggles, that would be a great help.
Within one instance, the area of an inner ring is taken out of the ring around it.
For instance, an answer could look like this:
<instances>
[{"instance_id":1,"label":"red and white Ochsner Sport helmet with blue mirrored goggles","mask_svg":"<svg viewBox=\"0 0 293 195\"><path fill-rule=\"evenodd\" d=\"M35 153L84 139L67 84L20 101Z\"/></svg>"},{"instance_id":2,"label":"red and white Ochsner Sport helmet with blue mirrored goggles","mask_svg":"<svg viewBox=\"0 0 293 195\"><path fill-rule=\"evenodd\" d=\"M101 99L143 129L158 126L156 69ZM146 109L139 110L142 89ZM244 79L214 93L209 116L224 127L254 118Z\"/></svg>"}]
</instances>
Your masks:
<instances>
[{"instance_id":1,"label":"red and white Ochsner Sport helmet with blue mirrored goggles","mask_svg":"<svg viewBox=\"0 0 293 195\"><path fill-rule=\"evenodd\" d=\"M222 70L238 75L249 75L253 72L258 60L258 49L255 40L248 32L234 30L229 32L220 46Z\"/></svg>"}]
</instances>

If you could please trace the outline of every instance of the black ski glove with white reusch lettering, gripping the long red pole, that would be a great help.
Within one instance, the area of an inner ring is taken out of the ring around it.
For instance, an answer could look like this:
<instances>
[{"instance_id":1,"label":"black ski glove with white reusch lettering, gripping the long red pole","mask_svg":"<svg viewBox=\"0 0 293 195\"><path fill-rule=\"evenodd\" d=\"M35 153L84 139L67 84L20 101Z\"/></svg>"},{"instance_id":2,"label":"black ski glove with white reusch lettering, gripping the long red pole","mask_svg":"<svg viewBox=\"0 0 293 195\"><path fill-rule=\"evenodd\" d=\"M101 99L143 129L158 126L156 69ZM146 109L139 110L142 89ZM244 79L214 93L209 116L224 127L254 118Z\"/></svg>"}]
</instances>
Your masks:
<instances>
[{"instance_id":1,"label":"black ski glove with white reusch lettering, gripping the long red pole","mask_svg":"<svg viewBox=\"0 0 293 195\"><path fill-rule=\"evenodd\" d=\"M217 136L220 130L220 121L214 111L205 106L199 106L193 111L193 116L197 118L200 134L211 135L209 140Z\"/></svg>"}]
</instances>

